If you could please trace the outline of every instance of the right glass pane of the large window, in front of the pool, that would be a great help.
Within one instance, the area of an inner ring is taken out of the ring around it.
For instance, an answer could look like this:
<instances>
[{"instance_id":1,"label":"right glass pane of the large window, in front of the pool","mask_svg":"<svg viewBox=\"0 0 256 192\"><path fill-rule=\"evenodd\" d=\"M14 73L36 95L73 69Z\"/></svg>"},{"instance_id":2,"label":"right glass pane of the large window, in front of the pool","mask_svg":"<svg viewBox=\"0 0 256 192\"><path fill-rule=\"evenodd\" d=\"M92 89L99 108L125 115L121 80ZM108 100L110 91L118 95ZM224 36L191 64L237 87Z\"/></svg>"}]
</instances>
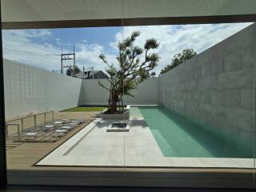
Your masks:
<instances>
[{"instance_id":1,"label":"right glass pane of the large window, in front of the pool","mask_svg":"<svg viewBox=\"0 0 256 192\"><path fill-rule=\"evenodd\" d=\"M156 13L149 11L150 6L140 9L125 2L125 18L137 14L142 22L153 18L152 14L159 14L159 21L166 16L165 10ZM133 25L132 19L127 22ZM182 175L190 179L183 185L194 187L194 181L203 176L190 176L191 169L198 173L203 168L202 173L214 179L206 179L208 186L220 181L219 177L235 178L228 174L232 170L252 187L255 24L125 26L124 37L134 31L140 32L134 46L144 50L141 62L147 39L155 38L160 45L148 52L159 56L152 70L156 75L132 90L134 98L127 97L138 106L130 108L132 137L126 134L126 170L148 168L148 179L154 178L152 186L158 182L179 186L176 182L182 182ZM155 174L159 167L162 170ZM213 176L212 168L221 174ZM234 183L234 187L242 185Z\"/></svg>"}]
</instances>

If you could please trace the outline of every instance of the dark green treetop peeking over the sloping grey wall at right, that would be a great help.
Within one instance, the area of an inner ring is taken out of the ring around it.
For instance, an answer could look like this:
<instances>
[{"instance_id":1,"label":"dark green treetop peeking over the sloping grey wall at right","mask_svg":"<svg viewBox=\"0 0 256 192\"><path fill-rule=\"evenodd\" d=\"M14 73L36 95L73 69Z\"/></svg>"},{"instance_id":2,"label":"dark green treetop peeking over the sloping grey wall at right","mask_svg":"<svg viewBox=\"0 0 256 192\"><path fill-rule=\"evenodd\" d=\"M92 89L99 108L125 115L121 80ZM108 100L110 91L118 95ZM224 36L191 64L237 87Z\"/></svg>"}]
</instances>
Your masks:
<instances>
[{"instance_id":1,"label":"dark green treetop peeking over the sloping grey wall at right","mask_svg":"<svg viewBox=\"0 0 256 192\"><path fill-rule=\"evenodd\" d=\"M160 74L165 74L167 71L174 69L174 67L186 62L190 58L193 58L197 53L193 49L182 50L182 53L175 54L174 58L171 60L171 63L165 66Z\"/></svg>"}]
</instances>

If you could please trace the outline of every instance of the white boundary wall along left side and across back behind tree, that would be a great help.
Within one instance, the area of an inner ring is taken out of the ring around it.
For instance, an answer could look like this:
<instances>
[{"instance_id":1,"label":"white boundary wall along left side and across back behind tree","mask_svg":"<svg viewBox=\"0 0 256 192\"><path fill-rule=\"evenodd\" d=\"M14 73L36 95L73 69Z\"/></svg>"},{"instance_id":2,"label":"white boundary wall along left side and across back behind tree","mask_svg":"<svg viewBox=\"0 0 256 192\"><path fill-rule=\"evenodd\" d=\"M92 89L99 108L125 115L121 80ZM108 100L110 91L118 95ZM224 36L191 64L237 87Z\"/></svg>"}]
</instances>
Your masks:
<instances>
[{"instance_id":1,"label":"white boundary wall along left side and across back behind tree","mask_svg":"<svg viewBox=\"0 0 256 192\"><path fill-rule=\"evenodd\" d=\"M107 105L109 93L98 79L81 80L4 59L6 118L81 105ZM108 86L108 82L103 80ZM158 78L149 78L133 90L124 104L158 104Z\"/></svg>"}]
</instances>

